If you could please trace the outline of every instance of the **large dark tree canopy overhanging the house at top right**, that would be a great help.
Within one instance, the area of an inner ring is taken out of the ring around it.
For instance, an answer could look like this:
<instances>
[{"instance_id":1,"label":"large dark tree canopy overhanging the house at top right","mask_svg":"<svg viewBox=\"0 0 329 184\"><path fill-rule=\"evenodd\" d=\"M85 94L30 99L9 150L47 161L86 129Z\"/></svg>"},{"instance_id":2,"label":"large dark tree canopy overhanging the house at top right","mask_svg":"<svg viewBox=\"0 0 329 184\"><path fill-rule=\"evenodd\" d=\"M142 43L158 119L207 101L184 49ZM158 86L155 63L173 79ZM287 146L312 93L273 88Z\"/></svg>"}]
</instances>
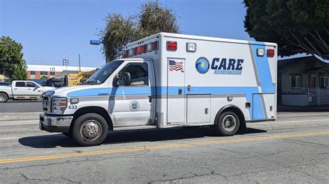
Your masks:
<instances>
[{"instance_id":1,"label":"large dark tree canopy overhanging the house at top right","mask_svg":"<svg viewBox=\"0 0 329 184\"><path fill-rule=\"evenodd\" d=\"M276 42L278 55L298 53L329 59L328 0L244 0L246 32Z\"/></svg>"}]
</instances>

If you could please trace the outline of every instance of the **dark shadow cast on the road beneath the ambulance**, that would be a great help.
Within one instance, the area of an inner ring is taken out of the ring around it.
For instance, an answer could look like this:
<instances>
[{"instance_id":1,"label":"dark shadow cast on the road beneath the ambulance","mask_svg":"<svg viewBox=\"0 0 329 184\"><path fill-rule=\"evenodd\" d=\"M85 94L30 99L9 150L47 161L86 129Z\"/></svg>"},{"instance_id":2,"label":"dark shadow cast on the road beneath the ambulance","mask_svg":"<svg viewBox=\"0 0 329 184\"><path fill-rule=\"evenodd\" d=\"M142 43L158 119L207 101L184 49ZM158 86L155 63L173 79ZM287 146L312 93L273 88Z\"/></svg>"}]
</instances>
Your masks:
<instances>
[{"instance_id":1,"label":"dark shadow cast on the road beneath the ambulance","mask_svg":"<svg viewBox=\"0 0 329 184\"><path fill-rule=\"evenodd\" d=\"M256 134L267 132L261 129L248 128L247 131L239 134ZM153 142L162 140L179 140L187 138L202 138L206 136L217 136L216 131L211 127L187 127L175 129L148 129L134 131L112 131L103 142L105 144L121 144L128 142ZM35 148L55 148L55 147L78 147L74 140L67 138L63 134L50 136L32 136L19 138L19 143Z\"/></svg>"}]
</instances>

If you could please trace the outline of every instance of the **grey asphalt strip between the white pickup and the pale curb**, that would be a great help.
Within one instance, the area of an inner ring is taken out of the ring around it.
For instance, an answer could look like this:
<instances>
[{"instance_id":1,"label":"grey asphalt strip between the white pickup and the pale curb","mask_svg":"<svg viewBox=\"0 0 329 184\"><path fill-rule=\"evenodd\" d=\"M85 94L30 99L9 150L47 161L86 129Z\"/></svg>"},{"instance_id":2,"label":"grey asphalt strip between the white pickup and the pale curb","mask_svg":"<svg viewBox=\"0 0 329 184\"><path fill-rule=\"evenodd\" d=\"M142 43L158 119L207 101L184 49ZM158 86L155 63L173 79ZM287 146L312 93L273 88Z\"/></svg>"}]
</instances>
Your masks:
<instances>
[{"instance_id":1,"label":"grey asphalt strip between the white pickup and the pale curb","mask_svg":"<svg viewBox=\"0 0 329 184\"><path fill-rule=\"evenodd\" d=\"M41 100L8 100L0 103L0 113L41 112Z\"/></svg>"}]
</instances>

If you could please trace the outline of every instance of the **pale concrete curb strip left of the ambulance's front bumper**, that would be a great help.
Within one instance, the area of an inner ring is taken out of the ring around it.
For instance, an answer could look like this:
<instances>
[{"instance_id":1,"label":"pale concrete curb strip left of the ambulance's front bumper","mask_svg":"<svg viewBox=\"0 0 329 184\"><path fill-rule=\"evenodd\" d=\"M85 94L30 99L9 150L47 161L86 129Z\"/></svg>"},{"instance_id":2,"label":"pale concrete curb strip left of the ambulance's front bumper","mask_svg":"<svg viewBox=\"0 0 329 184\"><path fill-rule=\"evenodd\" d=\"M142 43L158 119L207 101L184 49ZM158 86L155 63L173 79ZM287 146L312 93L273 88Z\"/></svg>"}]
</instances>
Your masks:
<instances>
[{"instance_id":1,"label":"pale concrete curb strip left of the ambulance's front bumper","mask_svg":"<svg viewBox=\"0 0 329 184\"><path fill-rule=\"evenodd\" d=\"M39 120L39 115L42 112L33 113L0 113L1 121L15 121L15 120Z\"/></svg>"}]
</instances>

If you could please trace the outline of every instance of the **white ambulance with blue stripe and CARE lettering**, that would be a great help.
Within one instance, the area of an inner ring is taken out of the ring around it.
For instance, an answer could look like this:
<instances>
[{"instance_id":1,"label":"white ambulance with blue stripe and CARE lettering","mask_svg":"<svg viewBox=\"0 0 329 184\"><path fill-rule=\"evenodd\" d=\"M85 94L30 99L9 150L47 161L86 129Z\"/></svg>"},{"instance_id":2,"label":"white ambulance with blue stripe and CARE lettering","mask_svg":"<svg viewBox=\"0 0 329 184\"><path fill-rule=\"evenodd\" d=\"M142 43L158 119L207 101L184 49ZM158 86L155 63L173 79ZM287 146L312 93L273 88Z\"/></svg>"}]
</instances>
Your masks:
<instances>
[{"instance_id":1,"label":"white ambulance with blue stripe and CARE lettering","mask_svg":"<svg viewBox=\"0 0 329 184\"><path fill-rule=\"evenodd\" d=\"M79 145L129 129L214 125L232 136L276 120L276 68L277 44L159 33L127 44L85 85L47 92L40 129Z\"/></svg>"}]
</instances>

